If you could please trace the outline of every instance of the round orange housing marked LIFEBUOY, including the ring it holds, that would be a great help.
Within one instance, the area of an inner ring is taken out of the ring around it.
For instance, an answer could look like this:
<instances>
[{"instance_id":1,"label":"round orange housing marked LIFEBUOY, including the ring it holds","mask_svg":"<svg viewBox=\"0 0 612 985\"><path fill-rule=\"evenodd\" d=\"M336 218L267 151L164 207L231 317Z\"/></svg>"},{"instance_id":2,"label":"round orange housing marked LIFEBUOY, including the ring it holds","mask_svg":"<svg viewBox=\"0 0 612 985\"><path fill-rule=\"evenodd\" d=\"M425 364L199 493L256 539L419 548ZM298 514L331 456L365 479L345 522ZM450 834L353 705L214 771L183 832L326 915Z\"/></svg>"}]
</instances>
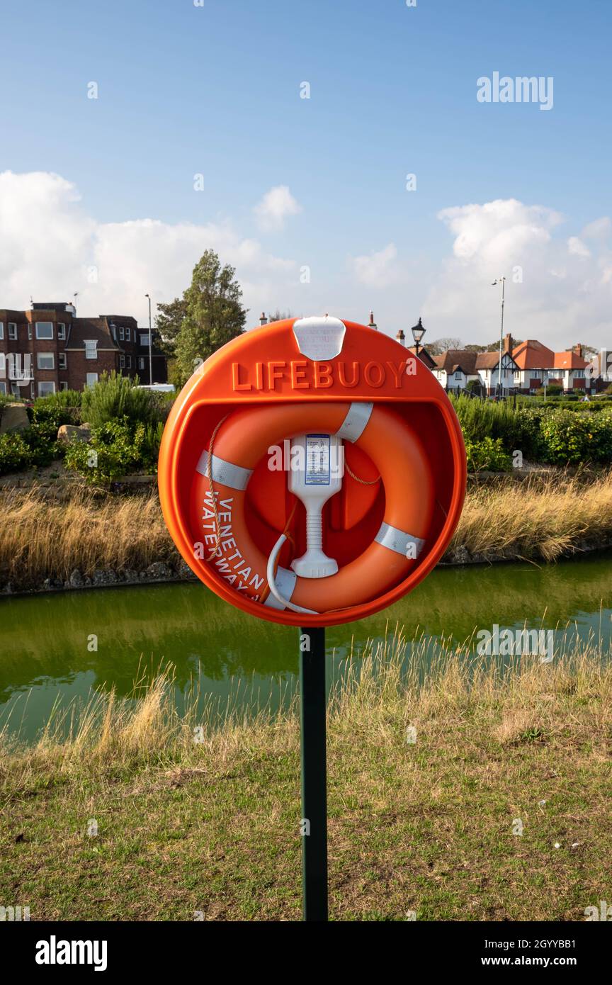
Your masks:
<instances>
[{"instance_id":1,"label":"round orange housing marked LIFEBUOY, including the ring it holds","mask_svg":"<svg viewBox=\"0 0 612 985\"><path fill-rule=\"evenodd\" d=\"M320 514L337 573L307 577L305 503L269 449L313 434L336 435L346 471ZM334 625L397 602L432 570L465 472L457 415L429 369L382 332L326 316L255 328L203 363L168 417L158 486L181 556L225 602Z\"/></svg>"}]
</instances>

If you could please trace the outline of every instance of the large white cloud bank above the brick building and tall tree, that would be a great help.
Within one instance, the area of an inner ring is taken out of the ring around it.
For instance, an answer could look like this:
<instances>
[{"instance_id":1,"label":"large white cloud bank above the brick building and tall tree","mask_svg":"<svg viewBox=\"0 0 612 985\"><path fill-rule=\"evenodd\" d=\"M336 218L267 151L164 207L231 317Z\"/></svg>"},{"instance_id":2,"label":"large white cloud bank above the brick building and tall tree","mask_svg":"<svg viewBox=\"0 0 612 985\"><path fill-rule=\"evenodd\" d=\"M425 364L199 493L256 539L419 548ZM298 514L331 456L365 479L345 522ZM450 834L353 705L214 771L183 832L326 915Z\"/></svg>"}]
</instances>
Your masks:
<instances>
[{"instance_id":1,"label":"large white cloud bank above the brick building and tall tree","mask_svg":"<svg viewBox=\"0 0 612 985\"><path fill-rule=\"evenodd\" d=\"M30 296L70 300L78 291L81 314L133 314L145 324L145 293L160 301L180 296L209 247L236 267L249 324L298 283L293 260L266 252L229 221L98 223L75 186L46 171L0 173L0 228L0 304L7 307L27 307Z\"/></svg>"}]
</instances>

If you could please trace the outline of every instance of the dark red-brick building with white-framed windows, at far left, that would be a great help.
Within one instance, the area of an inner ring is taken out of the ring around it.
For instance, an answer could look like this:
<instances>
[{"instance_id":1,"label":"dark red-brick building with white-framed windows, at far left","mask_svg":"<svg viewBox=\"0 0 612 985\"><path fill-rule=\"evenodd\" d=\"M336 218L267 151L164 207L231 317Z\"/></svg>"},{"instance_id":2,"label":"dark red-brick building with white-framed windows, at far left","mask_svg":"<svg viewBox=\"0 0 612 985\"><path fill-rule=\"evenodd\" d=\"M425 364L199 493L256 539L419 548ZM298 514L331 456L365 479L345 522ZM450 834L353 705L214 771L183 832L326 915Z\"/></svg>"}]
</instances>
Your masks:
<instances>
[{"instance_id":1,"label":"dark red-brick building with white-framed windows, at far left","mask_svg":"<svg viewBox=\"0 0 612 985\"><path fill-rule=\"evenodd\" d=\"M166 360L155 347L153 383L165 383ZM130 315L78 318L72 304L32 303L27 311L0 308L0 393L23 399L83 390L115 370L149 383L149 329Z\"/></svg>"}]
</instances>

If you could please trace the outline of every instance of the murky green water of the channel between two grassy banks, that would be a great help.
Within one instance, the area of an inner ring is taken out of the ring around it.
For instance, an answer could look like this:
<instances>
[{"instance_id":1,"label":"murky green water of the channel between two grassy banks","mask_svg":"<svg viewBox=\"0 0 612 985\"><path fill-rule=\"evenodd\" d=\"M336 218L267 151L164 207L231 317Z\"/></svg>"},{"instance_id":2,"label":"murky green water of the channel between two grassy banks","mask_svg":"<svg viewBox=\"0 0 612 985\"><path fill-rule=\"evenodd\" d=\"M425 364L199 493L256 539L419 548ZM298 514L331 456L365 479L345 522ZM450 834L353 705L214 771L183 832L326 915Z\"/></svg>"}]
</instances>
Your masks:
<instances>
[{"instance_id":1,"label":"murky green water of the channel between two grassy banks","mask_svg":"<svg viewBox=\"0 0 612 985\"><path fill-rule=\"evenodd\" d=\"M545 567L503 564L438 568L391 609L327 630L332 676L341 673L351 641L383 638L396 624L411 638L423 632L467 640L475 627L556 629L610 643L612 558ZM92 635L97 637L93 650ZM273 706L296 686L297 629L252 619L199 584L152 585L40 595L0 602L0 727L33 737L58 697L86 698L114 686L129 694L142 659L176 669L179 708L199 677L201 692L222 708L236 693ZM407 657L409 659L409 647Z\"/></svg>"}]
</instances>

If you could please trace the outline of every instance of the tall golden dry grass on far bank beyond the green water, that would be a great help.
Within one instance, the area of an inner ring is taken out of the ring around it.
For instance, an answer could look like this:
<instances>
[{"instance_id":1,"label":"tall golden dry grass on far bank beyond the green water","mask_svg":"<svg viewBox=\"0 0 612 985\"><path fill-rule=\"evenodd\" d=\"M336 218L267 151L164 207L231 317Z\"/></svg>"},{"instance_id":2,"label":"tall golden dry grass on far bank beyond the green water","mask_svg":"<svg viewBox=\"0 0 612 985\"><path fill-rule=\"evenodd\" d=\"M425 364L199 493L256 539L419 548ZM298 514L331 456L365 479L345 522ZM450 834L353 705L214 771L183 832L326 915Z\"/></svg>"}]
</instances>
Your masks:
<instances>
[{"instance_id":1,"label":"tall golden dry grass on far bank beyond the green water","mask_svg":"<svg viewBox=\"0 0 612 985\"><path fill-rule=\"evenodd\" d=\"M119 580L162 562L186 572L165 529L156 493L112 496L68 487L0 492L0 590L62 587L111 569ZM612 472L558 474L470 488L446 561L551 561L612 544ZM102 581L102 583L104 583Z\"/></svg>"}]
</instances>

